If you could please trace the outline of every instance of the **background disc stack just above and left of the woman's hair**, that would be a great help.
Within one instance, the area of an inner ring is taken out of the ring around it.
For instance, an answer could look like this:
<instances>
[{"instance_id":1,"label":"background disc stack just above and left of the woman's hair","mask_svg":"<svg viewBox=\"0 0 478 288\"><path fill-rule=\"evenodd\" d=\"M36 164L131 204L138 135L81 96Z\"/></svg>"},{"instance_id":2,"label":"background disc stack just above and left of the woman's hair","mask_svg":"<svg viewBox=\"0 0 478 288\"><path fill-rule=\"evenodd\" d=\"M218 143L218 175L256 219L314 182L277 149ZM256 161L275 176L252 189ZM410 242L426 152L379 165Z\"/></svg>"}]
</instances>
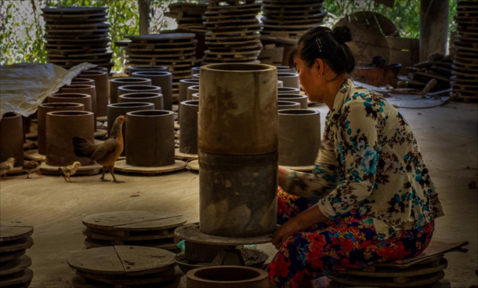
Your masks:
<instances>
[{"instance_id":1,"label":"background disc stack just above and left of the woman's hair","mask_svg":"<svg viewBox=\"0 0 478 288\"><path fill-rule=\"evenodd\" d=\"M323 0L263 0L262 34L298 38L324 21Z\"/></svg>"}]
</instances>

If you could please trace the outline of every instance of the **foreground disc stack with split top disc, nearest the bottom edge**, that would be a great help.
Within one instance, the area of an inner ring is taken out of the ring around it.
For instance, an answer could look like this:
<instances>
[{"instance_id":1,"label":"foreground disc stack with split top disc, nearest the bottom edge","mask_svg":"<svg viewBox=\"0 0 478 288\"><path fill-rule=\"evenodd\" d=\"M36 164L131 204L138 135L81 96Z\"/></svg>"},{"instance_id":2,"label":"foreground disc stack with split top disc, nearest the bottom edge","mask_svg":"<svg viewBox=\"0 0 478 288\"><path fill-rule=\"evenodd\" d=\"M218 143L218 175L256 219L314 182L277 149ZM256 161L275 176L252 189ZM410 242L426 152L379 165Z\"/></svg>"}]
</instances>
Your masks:
<instances>
[{"instance_id":1,"label":"foreground disc stack with split top disc, nearest the bottom edge","mask_svg":"<svg viewBox=\"0 0 478 288\"><path fill-rule=\"evenodd\" d=\"M68 265L76 275L72 287L178 287L181 270L175 254L159 248L108 246L72 254Z\"/></svg>"}]
</instances>

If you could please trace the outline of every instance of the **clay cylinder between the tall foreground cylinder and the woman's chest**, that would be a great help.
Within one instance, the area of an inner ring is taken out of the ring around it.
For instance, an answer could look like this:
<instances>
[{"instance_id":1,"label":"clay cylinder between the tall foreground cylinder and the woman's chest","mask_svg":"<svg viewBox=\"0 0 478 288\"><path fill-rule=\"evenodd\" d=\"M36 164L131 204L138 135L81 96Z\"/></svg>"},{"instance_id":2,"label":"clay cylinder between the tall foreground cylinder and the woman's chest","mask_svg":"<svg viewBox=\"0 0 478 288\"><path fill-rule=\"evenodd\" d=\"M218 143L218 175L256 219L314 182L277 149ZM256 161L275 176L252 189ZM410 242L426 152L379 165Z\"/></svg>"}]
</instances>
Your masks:
<instances>
[{"instance_id":1,"label":"clay cylinder between the tall foreground cylinder and the woman's chest","mask_svg":"<svg viewBox=\"0 0 478 288\"><path fill-rule=\"evenodd\" d=\"M279 110L279 165L314 165L320 138L319 111Z\"/></svg>"}]
</instances>

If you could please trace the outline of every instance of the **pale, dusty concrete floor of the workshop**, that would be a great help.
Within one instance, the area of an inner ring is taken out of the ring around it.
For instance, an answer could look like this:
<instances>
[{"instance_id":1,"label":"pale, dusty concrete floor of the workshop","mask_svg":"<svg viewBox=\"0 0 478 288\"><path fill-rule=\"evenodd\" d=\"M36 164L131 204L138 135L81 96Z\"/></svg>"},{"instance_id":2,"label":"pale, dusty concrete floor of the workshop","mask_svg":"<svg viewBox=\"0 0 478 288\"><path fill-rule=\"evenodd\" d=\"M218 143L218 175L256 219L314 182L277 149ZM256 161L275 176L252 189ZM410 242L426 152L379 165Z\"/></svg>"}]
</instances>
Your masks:
<instances>
[{"instance_id":1,"label":"pale, dusty concrete floor of the workshop","mask_svg":"<svg viewBox=\"0 0 478 288\"><path fill-rule=\"evenodd\" d=\"M440 101L418 96L391 96L398 106L430 106ZM312 107L321 111L325 105ZM434 239L463 241L468 253L446 255L445 279L451 287L478 285L478 104L453 102L430 109L399 108L413 128L425 162L435 181L446 216L436 220ZM111 176L110 176L111 177ZM100 176L72 177L25 174L1 182L0 218L34 227L35 244L26 255L34 272L30 287L69 287L74 275L66 264L72 253L84 249L82 218L119 210L158 210L182 213L188 222L199 221L199 174L187 170L157 176L119 174L123 184L103 183ZM131 197L133 194L139 196ZM259 248L271 256L271 244ZM184 285L184 282L181 284ZM184 287L184 286L183 286Z\"/></svg>"}]
</instances>

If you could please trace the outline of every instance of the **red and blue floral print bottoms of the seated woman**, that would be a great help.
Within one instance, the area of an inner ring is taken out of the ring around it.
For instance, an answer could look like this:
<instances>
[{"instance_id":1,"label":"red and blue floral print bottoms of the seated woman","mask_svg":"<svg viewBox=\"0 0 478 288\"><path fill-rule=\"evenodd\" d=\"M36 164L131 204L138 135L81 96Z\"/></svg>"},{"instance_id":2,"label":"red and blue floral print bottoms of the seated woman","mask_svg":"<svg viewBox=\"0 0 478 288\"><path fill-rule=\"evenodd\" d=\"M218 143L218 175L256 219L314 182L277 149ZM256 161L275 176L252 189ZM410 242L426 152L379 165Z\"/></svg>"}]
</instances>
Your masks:
<instances>
[{"instance_id":1,"label":"red and blue floral print bottoms of the seated woman","mask_svg":"<svg viewBox=\"0 0 478 288\"><path fill-rule=\"evenodd\" d=\"M283 224L315 203L279 190L277 222ZM378 240L372 217L351 210L289 237L267 268L269 282L278 287L300 287L304 278L317 279L333 272L411 258L425 250L433 230L431 222L402 231L399 238Z\"/></svg>"}]
</instances>

